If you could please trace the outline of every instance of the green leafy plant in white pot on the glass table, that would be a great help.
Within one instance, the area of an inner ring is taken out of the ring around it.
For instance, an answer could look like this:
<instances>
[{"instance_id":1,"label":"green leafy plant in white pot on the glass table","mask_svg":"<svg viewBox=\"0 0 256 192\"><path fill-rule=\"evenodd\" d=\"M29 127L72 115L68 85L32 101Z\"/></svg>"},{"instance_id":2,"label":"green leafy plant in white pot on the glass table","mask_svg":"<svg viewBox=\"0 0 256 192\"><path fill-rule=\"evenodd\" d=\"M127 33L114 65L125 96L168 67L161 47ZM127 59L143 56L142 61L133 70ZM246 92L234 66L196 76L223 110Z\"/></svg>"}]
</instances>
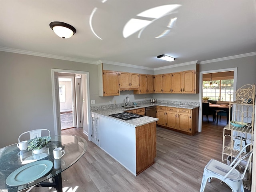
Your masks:
<instances>
[{"instance_id":1,"label":"green leafy plant in white pot on the glass table","mask_svg":"<svg viewBox=\"0 0 256 192\"><path fill-rule=\"evenodd\" d=\"M46 144L50 142L50 139L49 136L35 138L29 143L28 150L32 150L34 154L42 153L46 148Z\"/></svg>"}]
</instances>

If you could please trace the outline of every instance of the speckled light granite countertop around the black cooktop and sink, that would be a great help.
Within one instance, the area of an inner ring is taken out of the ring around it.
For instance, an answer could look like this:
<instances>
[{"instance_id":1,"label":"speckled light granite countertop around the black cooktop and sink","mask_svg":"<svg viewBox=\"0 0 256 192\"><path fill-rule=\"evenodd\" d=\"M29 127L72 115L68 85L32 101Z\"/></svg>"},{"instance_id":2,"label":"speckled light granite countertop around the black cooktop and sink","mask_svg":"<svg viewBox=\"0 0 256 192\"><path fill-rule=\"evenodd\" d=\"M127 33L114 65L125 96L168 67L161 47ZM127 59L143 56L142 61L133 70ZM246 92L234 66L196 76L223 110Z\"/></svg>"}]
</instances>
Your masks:
<instances>
[{"instance_id":1,"label":"speckled light granite countertop around the black cooktop and sink","mask_svg":"<svg viewBox=\"0 0 256 192\"><path fill-rule=\"evenodd\" d=\"M194 109L198 108L199 106L194 106L194 105L185 105L185 104L170 104L170 103L146 103L146 104L139 104L138 107L135 108L129 108L129 109L124 109L122 107L116 107L116 108L108 108L108 109L102 109L102 110L91 110L92 113L98 114L100 116L104 116L105 118L109 118L111 120L120 122L122 124L126 124L129 126L133 127L138 127L142 126L148 123L152 123L155 121L158 121L158 118L153 118L153 117L140 117L140 118L134 118L131 120L122 120L118 119L109 115L112 114L117 114L117 113L122 113L124 111L129 111L129 110L134 110L134 109L139 109L139 108L145 108L145 107L150 107L150 106L166 106L166 107L175 107L175 108L186 108L186 109Z\"/></svg>"}]
</instances>

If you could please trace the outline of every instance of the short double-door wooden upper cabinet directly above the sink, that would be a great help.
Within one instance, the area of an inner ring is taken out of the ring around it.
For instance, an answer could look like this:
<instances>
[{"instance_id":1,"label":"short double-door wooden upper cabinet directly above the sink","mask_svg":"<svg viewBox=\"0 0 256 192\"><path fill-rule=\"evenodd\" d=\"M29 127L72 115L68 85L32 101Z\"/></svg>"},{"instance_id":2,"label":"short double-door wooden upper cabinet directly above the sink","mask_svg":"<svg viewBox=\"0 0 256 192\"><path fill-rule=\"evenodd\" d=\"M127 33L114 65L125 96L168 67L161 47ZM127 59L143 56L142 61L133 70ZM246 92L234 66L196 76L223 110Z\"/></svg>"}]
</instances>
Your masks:
<instances>
[{"instance_id":1,"label":"short double-door wooden upper cabinet directly above the sink","mask_svg":"<svg viewBox=\"0 0 256 192\"><path fill-rule=\"evenodd\" d=\"M119 72L120 90L134 90L139 88L139 74Z\"/></svg>"}]
</instances>

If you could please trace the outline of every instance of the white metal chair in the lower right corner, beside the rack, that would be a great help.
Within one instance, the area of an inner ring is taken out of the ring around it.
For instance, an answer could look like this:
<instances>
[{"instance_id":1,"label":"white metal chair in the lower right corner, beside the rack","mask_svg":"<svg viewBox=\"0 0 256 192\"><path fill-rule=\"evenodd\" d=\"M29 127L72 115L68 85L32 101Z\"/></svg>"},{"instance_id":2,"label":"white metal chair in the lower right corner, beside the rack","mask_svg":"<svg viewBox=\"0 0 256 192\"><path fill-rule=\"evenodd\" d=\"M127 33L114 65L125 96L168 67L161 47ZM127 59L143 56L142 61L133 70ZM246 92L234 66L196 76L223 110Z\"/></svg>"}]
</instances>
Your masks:
<instances>
[{"instance_id":1,"label":"white metal chair in the lower right corner, beside the rack","mask_svg":"<svg viewBox=\"0 0 256 192\"><path fill-rule=\"evenodd\" d=\"M244 192L242 180L248 170L248 165L251 162L253 149L244 156L242 156L242 153L244 154L243 151L250 145L252 145L252 143L244 146L230 165L211 159L204 167L200 192L204 192L207 180L210 183L212 178L217 178L226 183L232 189L232 192ZM246 166L240 164L242 161L247 161ZM236 169L239 167L241 173Z\"/></svg>"}]
</instances>

